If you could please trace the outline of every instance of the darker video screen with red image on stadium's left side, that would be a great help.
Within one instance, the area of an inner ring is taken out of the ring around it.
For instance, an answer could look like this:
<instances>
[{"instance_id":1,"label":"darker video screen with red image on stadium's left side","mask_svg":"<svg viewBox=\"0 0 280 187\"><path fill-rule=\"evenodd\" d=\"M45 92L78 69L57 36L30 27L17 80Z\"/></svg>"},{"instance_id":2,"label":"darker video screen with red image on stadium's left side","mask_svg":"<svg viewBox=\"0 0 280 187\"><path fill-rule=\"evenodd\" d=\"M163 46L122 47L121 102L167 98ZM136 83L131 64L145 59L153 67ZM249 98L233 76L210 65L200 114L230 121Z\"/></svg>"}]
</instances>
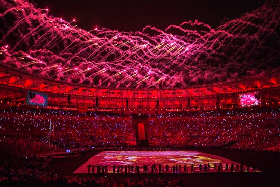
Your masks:
<instances>
[{"instance_id":1,"label":"darker video screen with red image on stadium's left side","mask_svg":"<svg viewBox=\"0 0 280 187\"><path fill-rule=\"evenodd\" d=\"M48 95L40 92L29 91L26 94L26 104L34 106L48 106Z\"/></svg>"}]
</instances>

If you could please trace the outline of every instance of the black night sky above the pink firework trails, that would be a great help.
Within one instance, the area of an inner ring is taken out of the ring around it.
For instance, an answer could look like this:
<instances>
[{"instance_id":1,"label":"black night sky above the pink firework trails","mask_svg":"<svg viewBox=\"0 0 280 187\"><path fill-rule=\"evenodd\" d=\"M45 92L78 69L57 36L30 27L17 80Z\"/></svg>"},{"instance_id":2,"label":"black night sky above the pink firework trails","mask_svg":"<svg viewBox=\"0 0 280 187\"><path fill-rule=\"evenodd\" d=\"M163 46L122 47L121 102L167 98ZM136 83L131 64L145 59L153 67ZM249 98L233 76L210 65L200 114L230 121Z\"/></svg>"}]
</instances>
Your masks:
<instances>
[{"instance_id":1,"label":"black night sky above the pink firework trails","mask_svg":"<svg viewBox=\"0 0 280 187\"><path fill-rule=\"evenodd\" d=\"M119 31L141 31L146 25L164 30L171 24L199 20L212 28L224 18L233 19L250 12L263 0L198 0L198 1L109 1L109 0L33 0L40 8L48 7L50 14L67 21L77 20L79 27L91 30L109 28Z\"/></svg>"}]
</instances>

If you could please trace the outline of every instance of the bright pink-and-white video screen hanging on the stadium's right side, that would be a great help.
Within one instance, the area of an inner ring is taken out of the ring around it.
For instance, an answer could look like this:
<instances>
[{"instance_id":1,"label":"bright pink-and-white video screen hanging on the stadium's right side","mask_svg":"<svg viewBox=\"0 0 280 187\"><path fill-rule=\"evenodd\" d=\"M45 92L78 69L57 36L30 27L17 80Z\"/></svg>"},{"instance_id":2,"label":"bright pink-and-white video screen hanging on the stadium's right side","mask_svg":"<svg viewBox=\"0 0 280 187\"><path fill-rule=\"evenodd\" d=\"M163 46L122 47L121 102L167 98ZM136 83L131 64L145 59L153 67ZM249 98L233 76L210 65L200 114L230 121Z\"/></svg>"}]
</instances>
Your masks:
<instances>
[{"instance_id":1,"label":"bright pink-and-white video screen hanging on the stadium's right side","mask_svg":"<svg viewBox=\"0 0 280 187\"><path fill-rule=\"evenodd\" d=\"M261 104L260 93L250 92L239 94L239 101L241 106L256 106Z\"/></svg>"}]
</instances>

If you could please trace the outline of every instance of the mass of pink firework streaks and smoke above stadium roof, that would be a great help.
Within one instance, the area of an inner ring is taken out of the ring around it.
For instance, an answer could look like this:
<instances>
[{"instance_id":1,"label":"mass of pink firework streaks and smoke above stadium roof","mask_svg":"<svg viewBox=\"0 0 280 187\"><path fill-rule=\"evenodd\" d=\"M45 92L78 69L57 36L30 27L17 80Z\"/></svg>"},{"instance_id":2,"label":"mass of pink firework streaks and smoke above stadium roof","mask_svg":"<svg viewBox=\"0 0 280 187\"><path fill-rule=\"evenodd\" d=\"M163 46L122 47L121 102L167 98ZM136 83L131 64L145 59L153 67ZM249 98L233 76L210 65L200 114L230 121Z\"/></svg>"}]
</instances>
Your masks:
<instances>
[{"instance_id":1,"label":"mass of pink firework streaks and smoke above stadium roof","mask_svg":"<svg viewBox=\"0 0 280 187\"><path fill-rule=\"evenodd\" d=\"M195 20L165 30L146 26L138 32L85 31L26 0L0 0L0 5L4 23L1 63L50 79L101 87L171 88L226 81L279 67L280 7L276 0L216 29ZM8 23L11 18L15 21ZM196 30L198 26L202 29ZM153 74L148 76L150 71Z\"/></svg>"}]
</instances>

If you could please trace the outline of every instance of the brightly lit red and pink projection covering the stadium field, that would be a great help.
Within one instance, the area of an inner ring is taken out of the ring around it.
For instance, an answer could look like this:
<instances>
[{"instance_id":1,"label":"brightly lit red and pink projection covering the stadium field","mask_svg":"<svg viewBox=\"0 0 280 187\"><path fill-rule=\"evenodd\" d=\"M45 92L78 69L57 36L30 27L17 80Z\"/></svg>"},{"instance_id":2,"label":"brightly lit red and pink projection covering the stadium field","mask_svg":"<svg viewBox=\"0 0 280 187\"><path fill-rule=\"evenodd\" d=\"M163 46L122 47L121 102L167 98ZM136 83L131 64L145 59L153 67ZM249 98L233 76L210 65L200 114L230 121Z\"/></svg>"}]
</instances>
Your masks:
<instances>
[{"instance_id":1,"label":"brightly lit red and pink projection covering the stadium field","mask_svg":"<svg viewBox=\"0 0 280 187\"><path fill-rule=\"evenodd\" d=\"M102 164L102 165L139 165L149 163L163 163L163 166L166 164L169 167L172 167L176 164L181 164L182 166L186 164L188 167L193 164L195 167L198 167L200 164L210 164L213 166L219 163L229 165L233 161L229 159L211 155L207 153L202 153L198 151L103 151L93 157L91 157L86 163L82 164L74 173L88 173L86 166L89 164ZM233 162L237 164L236 162ZM109 172L112 171L112 168L109 167Z\"/></svg>"}]
</instances>

